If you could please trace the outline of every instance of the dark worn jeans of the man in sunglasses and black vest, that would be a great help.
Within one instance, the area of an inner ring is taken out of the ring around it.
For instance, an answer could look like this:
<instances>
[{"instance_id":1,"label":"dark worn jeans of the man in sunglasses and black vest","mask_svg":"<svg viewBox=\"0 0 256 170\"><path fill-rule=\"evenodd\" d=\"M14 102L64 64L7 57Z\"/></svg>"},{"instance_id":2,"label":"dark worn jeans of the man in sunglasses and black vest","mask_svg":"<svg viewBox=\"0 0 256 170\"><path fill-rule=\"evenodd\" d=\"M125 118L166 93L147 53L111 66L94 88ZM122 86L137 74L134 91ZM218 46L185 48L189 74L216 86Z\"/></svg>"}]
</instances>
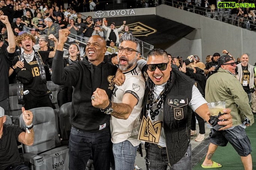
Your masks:
<instances>
[{"instance_id":1,"label":"dark worn jeans of the man in sunglasses and black vest","mask_svg":"<svg viewBox=\"0 0 256 170\"><path fill-rule=\"evenodd\" d=\"M169 166L168 156L165 147L154 143L145 143L147 170L166 170ZM169 166L170 170L192 170L191 167L191 145L180 161Z\"/></svg>"}]
</instances>

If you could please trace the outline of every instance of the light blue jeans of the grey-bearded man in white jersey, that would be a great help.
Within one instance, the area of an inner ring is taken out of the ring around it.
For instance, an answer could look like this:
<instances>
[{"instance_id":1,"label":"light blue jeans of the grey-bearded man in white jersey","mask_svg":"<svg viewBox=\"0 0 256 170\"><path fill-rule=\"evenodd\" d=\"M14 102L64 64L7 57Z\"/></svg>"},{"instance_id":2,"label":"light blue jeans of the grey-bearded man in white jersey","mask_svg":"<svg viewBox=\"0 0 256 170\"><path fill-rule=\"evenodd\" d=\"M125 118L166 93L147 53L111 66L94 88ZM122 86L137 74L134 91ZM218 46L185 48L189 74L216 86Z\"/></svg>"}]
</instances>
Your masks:
<instances>
[{"instance_id":1,"label":"light blue jeans of the grey-bearded man in white jersey","mask_svg":"<svg viewBox=\"0 0 256 170\"><path fill-rule=\"evenodd\" d=\"M128 140L113 143L115 170L133 170L138 146L133 146Z\"/></svg>"}]
</instances>

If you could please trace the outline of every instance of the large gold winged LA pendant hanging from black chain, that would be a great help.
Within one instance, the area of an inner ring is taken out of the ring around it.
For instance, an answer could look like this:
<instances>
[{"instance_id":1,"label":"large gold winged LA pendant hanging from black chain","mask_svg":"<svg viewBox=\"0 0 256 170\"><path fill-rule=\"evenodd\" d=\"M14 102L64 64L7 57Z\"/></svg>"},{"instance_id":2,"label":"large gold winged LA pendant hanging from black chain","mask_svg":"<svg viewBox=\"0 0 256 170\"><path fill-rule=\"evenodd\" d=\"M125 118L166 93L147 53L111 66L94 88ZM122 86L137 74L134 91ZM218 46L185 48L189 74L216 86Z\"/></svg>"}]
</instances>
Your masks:
<instances>
[{"instance_id":1,"label":"large gold winged LA pendant hanging from black chain","mask_svg":"<svg viewBox=\"0 0 256 170\"><path fill-rule=\"evenodd\" d=\"M143 116L139 129L138 140L150 143L158 143L162 129L162 121L151 122L150 118Z\"/></svg>"}]
</instances>

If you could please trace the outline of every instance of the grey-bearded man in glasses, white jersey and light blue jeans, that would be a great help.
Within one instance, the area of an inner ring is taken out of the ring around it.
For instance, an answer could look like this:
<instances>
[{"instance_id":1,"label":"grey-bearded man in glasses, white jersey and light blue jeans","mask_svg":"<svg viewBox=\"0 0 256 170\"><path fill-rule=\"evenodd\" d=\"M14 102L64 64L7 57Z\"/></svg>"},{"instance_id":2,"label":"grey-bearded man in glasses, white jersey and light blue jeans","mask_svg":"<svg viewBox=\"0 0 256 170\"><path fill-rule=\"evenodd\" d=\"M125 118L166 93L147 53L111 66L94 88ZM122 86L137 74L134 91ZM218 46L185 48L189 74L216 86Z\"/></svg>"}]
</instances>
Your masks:
<instances>
[{"instance_id":1,"label":"grey-bearded man in glasses, white jersey and light blue jeans","mask_svg":"<svg viewBox=\"0 0 256 170\"><path fill-rule=\"evenodd\" d=\"M143 105L145 81L137 67L141 43L131 34L121 37L118 47L118 67L126 76L122 86L116 86L111 101L105 90L97 88L92 104L110 114L115 170L133 170L139 140L132 138L138 126Z\"/></svg>"}]
</instances>

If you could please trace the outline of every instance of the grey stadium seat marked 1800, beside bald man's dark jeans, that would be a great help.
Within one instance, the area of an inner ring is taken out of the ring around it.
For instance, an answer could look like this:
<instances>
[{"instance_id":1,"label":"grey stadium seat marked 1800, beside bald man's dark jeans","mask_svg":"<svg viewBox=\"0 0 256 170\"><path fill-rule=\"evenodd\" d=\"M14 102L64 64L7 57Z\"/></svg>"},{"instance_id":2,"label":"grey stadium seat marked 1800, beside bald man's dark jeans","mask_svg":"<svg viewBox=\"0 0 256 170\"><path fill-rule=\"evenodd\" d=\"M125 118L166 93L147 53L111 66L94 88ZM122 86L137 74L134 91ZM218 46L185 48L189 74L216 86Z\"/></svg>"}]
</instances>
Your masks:
<instances>
[{"instance_id":1,"label":"grey stadium seat marked 1800, beside bald man's dark jeans","mask_svg":"<svg viewBox=\"0 0 256 170\"><path fill-rule=\"evenodd\" d=\"M33 113L34 143L32 146L22 145L24 161L30 163L31 170L68 170L69 149L61 146L54 110L40 107L30 111ZM21 129L25 129L22 114L19 122Z\"/></svg>"}]
</instances>

